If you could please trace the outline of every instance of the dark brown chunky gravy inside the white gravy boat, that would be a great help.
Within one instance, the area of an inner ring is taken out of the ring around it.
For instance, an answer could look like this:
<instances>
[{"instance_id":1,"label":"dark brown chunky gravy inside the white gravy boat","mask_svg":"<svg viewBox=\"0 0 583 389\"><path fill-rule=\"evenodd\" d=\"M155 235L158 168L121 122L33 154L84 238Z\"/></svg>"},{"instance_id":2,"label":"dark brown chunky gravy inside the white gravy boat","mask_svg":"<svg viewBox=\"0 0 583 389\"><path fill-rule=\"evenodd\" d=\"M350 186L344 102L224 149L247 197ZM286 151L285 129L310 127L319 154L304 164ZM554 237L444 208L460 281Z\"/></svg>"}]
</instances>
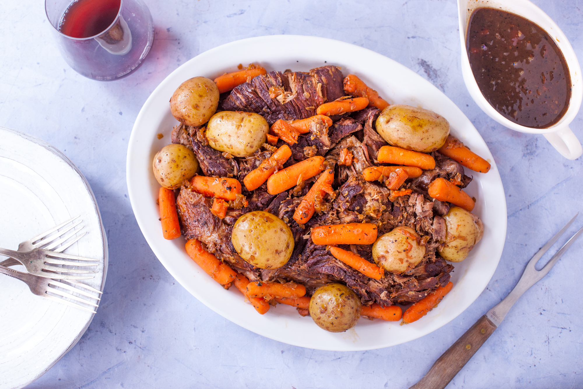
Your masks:
<instances>
[{"instance_id":1,"label":"dark brown chunky gravy inside the white gravy boat","mask_svg":"<svg viewBox=\"0 0 583 389\"><path fill-rule=\"evenodd\" d=\"M546 128L563 117L571 77L553 39L530 20L493 8L470 16L466 40L474 78L498 112L517 124Z\"/></svg>"}]
</instances>

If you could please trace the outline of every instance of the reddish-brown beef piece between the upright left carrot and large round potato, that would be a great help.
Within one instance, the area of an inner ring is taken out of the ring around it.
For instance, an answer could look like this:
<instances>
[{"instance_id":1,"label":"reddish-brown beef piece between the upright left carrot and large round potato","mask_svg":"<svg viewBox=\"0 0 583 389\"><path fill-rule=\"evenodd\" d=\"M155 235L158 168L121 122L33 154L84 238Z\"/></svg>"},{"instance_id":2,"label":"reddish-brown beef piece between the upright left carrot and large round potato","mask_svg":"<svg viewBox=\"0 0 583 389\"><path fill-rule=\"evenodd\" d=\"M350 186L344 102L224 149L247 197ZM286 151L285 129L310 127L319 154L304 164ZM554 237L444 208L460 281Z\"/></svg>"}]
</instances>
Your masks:
<instances>
[{"instance_id":1,"label":"reddish-brown beef piece between the upright left carrot and large round potato","mask_svg":"<svg viewBox=\"0 0 583 389\"><path fill-rule=\"evenodd\" d=\"M208 252L237 268L255 271L235 251L231 243L233 227L210 212L212 203L212 198L206 198L187 186L180 188L176 206L182 235L187 239L198 239L205 244Z\"/></svg>"}]
</instances>

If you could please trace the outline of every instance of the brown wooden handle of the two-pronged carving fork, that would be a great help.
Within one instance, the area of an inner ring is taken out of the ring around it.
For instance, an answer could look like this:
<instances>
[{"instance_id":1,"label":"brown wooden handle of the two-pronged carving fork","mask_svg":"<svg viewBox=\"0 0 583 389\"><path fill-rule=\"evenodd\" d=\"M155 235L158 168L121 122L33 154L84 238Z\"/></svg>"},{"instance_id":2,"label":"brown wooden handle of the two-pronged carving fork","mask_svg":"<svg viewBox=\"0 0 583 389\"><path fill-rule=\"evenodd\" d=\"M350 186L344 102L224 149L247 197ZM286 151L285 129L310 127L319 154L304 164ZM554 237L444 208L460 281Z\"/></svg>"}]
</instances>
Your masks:
<instances>
[{"instance_id":1,"label":"brown wooden handle of the two-pronged carving fork","mask_svg":"<svg viewBox=\"0 0 583 389\"><path fill-rule=\"evenodd\" d=\"M427 374L409 389L443 389L465 366L496 329L483 315L465 334L447 349L427 371Z\"/></svg>"}]
</instances>

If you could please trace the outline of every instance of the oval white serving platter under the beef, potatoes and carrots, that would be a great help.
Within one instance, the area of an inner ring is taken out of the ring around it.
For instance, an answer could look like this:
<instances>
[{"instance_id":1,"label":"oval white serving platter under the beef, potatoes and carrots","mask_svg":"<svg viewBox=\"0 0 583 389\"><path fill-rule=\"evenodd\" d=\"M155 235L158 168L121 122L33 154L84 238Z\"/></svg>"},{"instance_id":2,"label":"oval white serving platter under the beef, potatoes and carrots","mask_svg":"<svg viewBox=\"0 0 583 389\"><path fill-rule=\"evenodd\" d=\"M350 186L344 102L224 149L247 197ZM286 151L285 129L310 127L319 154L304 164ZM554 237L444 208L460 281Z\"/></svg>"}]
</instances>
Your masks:
<instances>
[{"instance_id":1,"label":"oval white serving platter under the beef, potatoes and carrots","mask_svg":"<svg viewBox=\"0 0 583 389\"><path fill-rule=\"evenodd\" d=\"M215 78L235 71L237 64L261 64L268 71L308 71L322 65L339 65L346 76L358 75L390 103L433 110L444 116L451 133L473 151L488 159L489 173L472 172L466 191L477 199L474 213L485 226L484 238L469 257L455 263L454 289L423 319L409 325L381 320L361 320L347 332L326 332L292 308L278 305L259 315L234 288L224 290L189 259L184 239L162 237L156 206L159 185L152 174L152 158L170 143L170 131L178 124L168 100L188 78ZM160 140L157 134L163 134ZM168 75L146 100L129 139L127 159L129 199L138 224L152 251L168 272L193 296L223 317L257 334L280 342L324 350L369 350L408 342L429 334L461 314L482 293L496 270L506 235L506 202L498 169L486 144L455 104L425 79L403 65L362 47L308 36L264 36L224 44L186 62Z\"/></svg>"}]
</instances>

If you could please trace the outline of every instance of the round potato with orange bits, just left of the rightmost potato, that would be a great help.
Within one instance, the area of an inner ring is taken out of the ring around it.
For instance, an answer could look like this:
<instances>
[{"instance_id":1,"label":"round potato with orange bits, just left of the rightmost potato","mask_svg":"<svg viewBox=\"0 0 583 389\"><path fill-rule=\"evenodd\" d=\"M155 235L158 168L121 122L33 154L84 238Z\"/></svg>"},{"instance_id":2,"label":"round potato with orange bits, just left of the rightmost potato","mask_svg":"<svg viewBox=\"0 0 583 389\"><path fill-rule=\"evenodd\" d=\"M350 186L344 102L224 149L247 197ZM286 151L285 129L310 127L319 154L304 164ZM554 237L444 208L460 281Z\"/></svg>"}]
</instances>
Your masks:
<instances>
[{"instance_id":1,"label":"round potato with orange bits, just left of the rightmost potato","mask_svg":"<svg viewBox=\"0 0 583 389\"><path fill-rule=\"evenodd\" d=\"M373 244L373 259L387 272L401 274L415 268L425 255L419 235L411 227L395 227Z\"/></svg>"}]
</instances>

